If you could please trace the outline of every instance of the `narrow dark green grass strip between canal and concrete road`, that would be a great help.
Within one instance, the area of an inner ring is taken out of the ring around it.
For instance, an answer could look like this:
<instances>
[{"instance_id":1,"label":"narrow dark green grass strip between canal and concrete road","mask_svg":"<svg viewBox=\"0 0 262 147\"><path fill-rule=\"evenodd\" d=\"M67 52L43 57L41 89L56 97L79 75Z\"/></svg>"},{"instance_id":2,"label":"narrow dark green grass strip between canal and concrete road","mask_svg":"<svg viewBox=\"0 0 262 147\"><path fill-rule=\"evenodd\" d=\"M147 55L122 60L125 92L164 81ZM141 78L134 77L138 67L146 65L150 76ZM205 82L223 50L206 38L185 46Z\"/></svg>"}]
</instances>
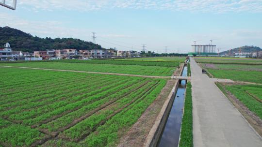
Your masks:
<instances>
[{"instance_id":1,"label":"narrow dark green grass strip between canal and concrete road","mask_svg":"<svg viewBox=\"0 0 262 147\"><path fill-rule=\"evenodd\" d=\"M192 86L186 85L184 113L181 124L179 147L193 147L193 113L192 113Z\"/></svg>"}]
</instances>

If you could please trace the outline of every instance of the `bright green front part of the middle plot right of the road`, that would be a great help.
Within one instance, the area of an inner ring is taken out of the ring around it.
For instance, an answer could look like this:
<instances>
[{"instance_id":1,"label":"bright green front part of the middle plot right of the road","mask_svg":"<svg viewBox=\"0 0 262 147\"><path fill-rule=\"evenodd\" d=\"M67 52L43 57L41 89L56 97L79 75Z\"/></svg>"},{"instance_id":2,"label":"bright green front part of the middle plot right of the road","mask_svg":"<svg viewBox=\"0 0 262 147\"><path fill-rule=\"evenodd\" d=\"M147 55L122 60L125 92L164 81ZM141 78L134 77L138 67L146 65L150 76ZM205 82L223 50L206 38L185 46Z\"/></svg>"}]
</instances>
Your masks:
<instances>
[{"instance_id":1,"label":"bright green front part of the middle plot right of the road","mask_svg":"<svg viewBox=\"0 0 262 147\"><path fill-rule=\"evenodd\" d=\"M231 79L234 81L244 81L262 83L261 71L239 71L239 70L216 70L208 69L208 72L215 78Z\"/></svg>"}]
</instances>

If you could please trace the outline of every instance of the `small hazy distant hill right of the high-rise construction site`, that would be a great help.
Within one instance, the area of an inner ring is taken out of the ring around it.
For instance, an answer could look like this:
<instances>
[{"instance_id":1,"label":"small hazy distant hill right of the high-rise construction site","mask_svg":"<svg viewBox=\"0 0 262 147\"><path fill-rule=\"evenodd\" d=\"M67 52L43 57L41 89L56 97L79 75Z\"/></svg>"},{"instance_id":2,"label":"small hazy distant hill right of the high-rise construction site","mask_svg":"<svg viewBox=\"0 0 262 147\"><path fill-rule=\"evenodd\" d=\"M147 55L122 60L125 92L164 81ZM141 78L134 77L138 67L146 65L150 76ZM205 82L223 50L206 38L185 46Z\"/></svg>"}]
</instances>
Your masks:
<instances>
[{"instance_id":1,"label":"small hazy distant hill right of the high-rise construction site","mask_svg":"<svg viewBox=\"0 0 262 147\"><path fill-rule=\"evenodd\" d=\"M237 47L237 48L232 49L230 51L231 54L239 53L239 48L241 48L242 53L255 53L257 51L262 51L262 49L258 46L247 46L246 45L246 46ZM220 55L226 55L226 54L227 55L229 54L229 50L220 53Z\"/></svg>"}]
</instances>

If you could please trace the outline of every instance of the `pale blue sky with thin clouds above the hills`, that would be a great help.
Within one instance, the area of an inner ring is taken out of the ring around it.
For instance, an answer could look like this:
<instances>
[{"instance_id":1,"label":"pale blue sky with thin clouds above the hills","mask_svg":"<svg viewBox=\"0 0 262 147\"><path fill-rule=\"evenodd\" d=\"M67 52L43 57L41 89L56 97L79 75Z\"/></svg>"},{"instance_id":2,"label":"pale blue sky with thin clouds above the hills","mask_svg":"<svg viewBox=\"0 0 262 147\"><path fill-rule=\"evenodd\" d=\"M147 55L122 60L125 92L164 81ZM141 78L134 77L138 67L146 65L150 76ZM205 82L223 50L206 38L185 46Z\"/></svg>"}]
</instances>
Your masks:
<instances>
[{"instance_id":1,"label":"pale blue sky with thin clouds above the hills","mask_svg":"<svg viewBox=\"0 0 262 147\"><path fill-rule=\"evenodd\" d=\"M211 39L220 51L262 48L262 0L17 0L15 11L0 7L5 26L90 42L96 32L97 44L117 50L187 53Z\"/></svg>"}]
</instances>

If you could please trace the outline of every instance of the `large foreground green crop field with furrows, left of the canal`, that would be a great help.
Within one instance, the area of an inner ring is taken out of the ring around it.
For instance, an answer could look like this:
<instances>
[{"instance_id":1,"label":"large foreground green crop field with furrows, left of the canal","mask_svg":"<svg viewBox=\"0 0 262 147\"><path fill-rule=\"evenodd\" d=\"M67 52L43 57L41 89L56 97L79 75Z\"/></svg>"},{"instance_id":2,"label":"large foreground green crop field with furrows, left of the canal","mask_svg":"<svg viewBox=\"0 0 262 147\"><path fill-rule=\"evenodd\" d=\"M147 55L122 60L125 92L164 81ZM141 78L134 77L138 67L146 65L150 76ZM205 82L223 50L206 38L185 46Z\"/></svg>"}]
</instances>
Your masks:
<instances>
[{"instance_id":1,"label":"large foreground green crop field with furrows, left of the canal","mask_svg":"<svg viewBox=\"0 0 262 147\"><path fill-rule=\"evenodd\" d=\"M0 74L1 146L115 146L166 83L4 67Z\"/></svg>"}]
</instances>

